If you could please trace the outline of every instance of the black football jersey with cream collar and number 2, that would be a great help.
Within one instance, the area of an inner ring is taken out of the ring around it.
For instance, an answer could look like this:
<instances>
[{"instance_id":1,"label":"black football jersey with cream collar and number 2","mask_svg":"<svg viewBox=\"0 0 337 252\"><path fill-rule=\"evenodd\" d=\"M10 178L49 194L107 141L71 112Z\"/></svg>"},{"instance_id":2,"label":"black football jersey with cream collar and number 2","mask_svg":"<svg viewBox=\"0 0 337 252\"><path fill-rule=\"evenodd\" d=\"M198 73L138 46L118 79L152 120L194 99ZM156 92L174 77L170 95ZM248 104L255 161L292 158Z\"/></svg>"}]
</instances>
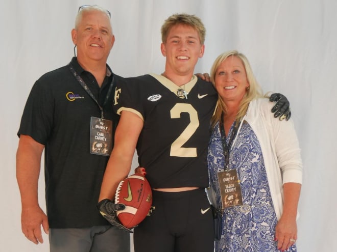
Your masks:
<instances>
[{"instance_id":1,"label":"black football jersey with cream collar and number 2","mask_svg":"<svg viewBox=\"0 0 337 252\"><path fill-rule=\"evenodd\" d=\"M207 187L210 119L218 94L194 76L178 87L161 75L117 83L114 109L144 121L137 143L139 165L152 188Z\"/></svg>"}]
</instances>

